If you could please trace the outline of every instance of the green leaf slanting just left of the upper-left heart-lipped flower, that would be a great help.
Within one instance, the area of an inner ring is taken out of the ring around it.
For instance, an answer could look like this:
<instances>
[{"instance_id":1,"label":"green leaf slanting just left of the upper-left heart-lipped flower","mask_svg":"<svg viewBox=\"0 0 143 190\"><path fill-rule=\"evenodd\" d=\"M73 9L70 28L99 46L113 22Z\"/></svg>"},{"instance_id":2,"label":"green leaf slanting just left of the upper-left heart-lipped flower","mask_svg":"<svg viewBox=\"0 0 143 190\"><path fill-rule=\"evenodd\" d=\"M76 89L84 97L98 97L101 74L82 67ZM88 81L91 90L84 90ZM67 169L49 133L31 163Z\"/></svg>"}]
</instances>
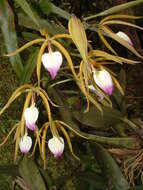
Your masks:
<instances>
[{"instance_id":1,"label":"green leaf slanting just left of the upper-left heart-lipped flower","mask_svg":"<svg viewBox=\"0 0 143 190\"><path fill-rule=\"evenodd\" d=\"M28 83L31 79L32 73L36 68L36 60L38 56L39 48L34 48L33 53L29 56L26 65L24 66L24 70L22 72L21 84Z\"/></svg>"}]
</instances>

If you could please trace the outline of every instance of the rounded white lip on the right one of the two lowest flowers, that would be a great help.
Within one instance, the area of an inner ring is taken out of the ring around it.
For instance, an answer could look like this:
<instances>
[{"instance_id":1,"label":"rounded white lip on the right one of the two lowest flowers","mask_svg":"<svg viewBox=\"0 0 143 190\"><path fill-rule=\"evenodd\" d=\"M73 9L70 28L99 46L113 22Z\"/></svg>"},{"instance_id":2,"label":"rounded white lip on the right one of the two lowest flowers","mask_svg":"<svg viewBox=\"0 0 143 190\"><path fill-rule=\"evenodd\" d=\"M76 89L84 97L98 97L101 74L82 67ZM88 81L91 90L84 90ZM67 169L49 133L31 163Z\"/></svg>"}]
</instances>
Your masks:
<instances>
[{"instance_id":1,"label":"rounded white lip on the right one of the two lowest flowers","mask_svg":"<svg viewBox=\"0 0 143 190\"><path fill-rule=\"evenodd\" d=\"M59 140L57 137L53 136L53 138L51 138L48 141L48 147L49 147L49 150L54 154L54 157L58 158L62 156L63 151L64 151L64 147L65 147L64 139L60 137L60 140Z\"/></svg>"}]
</instances>

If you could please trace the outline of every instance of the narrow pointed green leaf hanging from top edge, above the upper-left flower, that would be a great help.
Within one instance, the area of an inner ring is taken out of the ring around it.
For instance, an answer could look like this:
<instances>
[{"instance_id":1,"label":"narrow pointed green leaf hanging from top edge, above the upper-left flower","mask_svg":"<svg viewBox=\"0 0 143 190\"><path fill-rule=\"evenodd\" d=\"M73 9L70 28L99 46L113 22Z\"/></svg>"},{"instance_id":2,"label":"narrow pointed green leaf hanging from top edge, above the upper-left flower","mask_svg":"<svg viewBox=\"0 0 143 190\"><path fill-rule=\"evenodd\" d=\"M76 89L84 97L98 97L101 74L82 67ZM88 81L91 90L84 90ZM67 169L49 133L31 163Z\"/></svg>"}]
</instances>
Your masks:
<instances>
[{"instance_id":1,"label":"narrow pointed green leaf hanging from top edge, above the upper-left flower","mask_svg":"<svg viewBox=\"0 0 143 190\"><path fill-rule=\"evenodd\" d=\"M26 0L15 0L17 4L20 5L20 7L23 9L23 11L32 19L32 21L40 27L39 23L37 22L37 19L34 16L34 13L30 7L30 5L27 3Z\"/></svg>"}]
</instances>

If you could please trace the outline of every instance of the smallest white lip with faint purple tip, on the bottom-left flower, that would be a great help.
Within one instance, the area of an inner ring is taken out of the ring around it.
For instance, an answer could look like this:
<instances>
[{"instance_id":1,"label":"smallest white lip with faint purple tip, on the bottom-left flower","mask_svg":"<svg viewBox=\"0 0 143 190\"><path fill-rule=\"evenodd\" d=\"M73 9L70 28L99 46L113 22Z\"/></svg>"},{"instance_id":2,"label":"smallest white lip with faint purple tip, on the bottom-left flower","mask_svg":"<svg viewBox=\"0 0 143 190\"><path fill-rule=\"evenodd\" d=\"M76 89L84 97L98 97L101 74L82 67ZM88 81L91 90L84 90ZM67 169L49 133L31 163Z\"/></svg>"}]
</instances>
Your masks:
<instances>
[{"instance_id":1,"label":"smallest white lip with faint purple tip, on the bottom-left flower","mask_svg":"<svg viewBox=\"0 0 143 190\"><path fill-rule=\"evenodd\" d=\"M20 151L24 154L27 154L32 146L32 139L25 133L25 135L19 141Z\"/></svg>"}]
</instances>

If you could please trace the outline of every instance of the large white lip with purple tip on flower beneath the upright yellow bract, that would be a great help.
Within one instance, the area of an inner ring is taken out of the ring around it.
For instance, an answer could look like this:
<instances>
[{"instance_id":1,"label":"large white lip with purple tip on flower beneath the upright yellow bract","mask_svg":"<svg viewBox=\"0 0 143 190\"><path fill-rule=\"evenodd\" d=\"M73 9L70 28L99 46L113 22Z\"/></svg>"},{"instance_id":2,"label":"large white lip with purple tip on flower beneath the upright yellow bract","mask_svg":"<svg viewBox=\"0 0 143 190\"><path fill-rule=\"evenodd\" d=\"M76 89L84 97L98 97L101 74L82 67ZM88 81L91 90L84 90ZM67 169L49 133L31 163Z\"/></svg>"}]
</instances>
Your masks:
<instances>
[{"instance_id":1,"label":"large white lip with purple tip on flower beneath the upright yellow bract","mask_svg":"<svg viewBox=\"0 0 143 190\"><path fill-rule=\"evenodd\" d=\"M93 79L95 83L109 96L112 94L114 86L110 74L105 70L94 70Z\"/></svg>"}]
</instances>

